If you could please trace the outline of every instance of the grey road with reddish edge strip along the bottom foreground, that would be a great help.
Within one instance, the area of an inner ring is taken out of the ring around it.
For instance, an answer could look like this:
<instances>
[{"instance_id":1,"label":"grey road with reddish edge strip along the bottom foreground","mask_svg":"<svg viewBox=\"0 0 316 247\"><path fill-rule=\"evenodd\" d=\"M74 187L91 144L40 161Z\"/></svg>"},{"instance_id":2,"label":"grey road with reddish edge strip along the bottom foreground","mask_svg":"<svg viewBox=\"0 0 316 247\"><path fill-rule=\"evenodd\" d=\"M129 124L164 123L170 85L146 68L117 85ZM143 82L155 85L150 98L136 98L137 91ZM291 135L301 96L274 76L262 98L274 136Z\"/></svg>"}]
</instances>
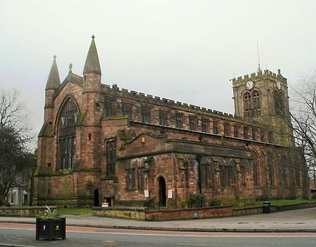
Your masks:
<instances>
[{"instance_id":1,"label":"grey road with reddish edge strip along the bottom foreground","mask_svg":"<svg viewBox=\"0 0 316 247\"><path fill-rule=\"evenodd\" d=\"M316 233L220 233L67 227L65 240L35 240L32 224L0 223L0 246L315 247Z\"/></svg>"}]
</instances>

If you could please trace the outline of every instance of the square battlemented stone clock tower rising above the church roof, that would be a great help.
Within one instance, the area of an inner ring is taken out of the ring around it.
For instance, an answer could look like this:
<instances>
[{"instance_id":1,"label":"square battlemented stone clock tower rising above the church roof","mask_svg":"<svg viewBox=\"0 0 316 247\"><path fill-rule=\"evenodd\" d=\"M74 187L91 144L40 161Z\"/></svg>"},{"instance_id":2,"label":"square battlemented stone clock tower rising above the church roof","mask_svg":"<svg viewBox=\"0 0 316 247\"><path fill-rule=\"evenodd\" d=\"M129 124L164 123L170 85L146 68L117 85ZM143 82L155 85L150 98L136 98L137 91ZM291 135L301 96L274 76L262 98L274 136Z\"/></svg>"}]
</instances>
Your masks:
<instances>
[{"instance_id":1,"label":"square battlemented stone clock tower rising above the church roof","mask_svg":"<svg viewBox=\"0 0 316 247\"><path fill-rule=\"evenodd\" d=\"M280 70L258 71L232 79L235 115L266 126L261 130L265 142L294 146L287 78Z\"/></svg>"}]
</instances>

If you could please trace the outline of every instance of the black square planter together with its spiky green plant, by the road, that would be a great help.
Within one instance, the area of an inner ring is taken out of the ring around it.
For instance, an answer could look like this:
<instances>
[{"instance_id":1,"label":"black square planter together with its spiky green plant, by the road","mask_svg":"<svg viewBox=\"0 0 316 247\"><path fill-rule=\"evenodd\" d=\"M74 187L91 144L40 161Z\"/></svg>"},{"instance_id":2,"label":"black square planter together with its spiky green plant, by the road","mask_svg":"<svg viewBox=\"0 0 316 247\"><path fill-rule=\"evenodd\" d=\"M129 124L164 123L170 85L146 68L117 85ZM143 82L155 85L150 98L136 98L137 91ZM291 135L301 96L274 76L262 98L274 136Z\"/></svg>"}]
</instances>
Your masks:
<instances>
[{"instance_id":1,"label":"black square planter together with its spiky green plant, by the road","mask_svg":"<svg viewBox=\"0 0 316 247\"><path fill-rule=\"evenodd\" d=\"M46 205L41 218L37 218L36 239L66 239L66 218L60 217L56 209L53 211Z\"/></svg>"}]
</instances>

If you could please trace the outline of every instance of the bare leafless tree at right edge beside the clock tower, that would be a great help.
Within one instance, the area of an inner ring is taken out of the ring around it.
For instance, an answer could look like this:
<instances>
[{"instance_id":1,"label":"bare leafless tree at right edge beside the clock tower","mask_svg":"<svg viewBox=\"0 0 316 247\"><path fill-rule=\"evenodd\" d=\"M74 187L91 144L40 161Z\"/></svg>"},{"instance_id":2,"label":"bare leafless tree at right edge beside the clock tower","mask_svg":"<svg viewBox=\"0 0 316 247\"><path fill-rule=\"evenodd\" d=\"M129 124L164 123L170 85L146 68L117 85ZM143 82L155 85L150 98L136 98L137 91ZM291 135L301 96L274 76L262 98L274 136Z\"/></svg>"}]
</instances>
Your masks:
<instances>
[{"instance_id":1,"label":"bare leafless tree at right edge beside the clock tower","mask_svg":"<svg viewBox=\"0 0 316 247\"><path fill-rule=\"evenodd\" d=\"M303 148L308 174L316 184L316 71L303 75L292 88L291 118L298 146Z\"/></svg>"}]
</instances>

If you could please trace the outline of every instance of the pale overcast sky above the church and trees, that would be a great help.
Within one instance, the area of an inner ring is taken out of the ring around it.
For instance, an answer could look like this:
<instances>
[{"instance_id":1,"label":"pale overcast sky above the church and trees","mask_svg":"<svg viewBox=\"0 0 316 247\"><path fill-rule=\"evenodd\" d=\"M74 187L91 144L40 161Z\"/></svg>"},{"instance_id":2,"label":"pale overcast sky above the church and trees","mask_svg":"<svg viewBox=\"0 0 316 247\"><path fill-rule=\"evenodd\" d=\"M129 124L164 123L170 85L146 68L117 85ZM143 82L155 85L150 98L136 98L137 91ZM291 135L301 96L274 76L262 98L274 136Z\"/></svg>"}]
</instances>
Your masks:
<instances>
[{"instance_id":1,"label":"pale overcast sky above the church and trees","mask_svg":"<svg viewBox=\"0 0 316 247\"><path fill-rule=\"evenodd\" d=\"M91 43L102 82L233 112L230 79L281 69L289 83L316 68L316 1L0 0L0 87L22 91L43 124L53 55L60 80L82 76Z\"/></svg>"}]
</instances>

